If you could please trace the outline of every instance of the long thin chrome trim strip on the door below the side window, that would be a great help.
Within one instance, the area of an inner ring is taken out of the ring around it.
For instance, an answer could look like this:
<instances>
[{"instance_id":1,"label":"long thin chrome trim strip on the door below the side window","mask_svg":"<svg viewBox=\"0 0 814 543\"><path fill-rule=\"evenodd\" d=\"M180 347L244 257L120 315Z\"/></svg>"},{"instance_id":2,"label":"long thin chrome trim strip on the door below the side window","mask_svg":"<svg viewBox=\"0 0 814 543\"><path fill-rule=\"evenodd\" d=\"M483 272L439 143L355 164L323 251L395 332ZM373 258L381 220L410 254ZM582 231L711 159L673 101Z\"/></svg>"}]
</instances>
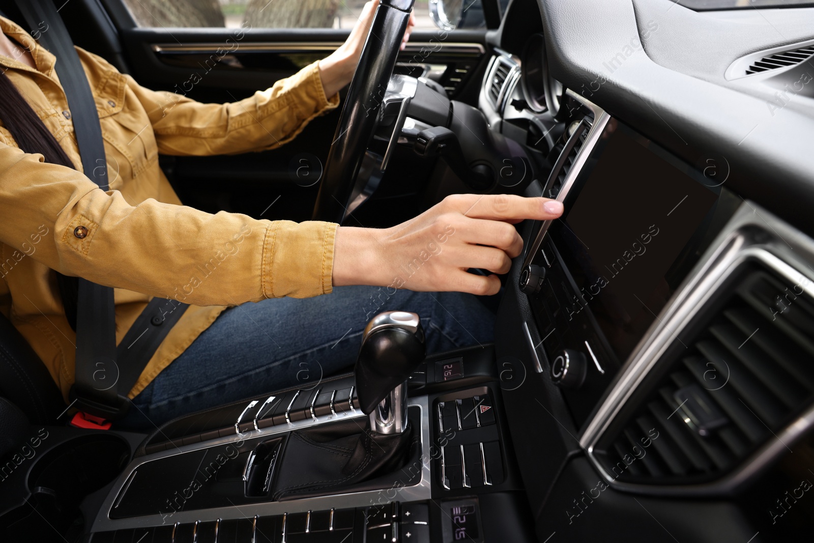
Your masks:
<instances>
[{"instance_id":1,"label":"long thin chrome trim strip on the door below the side window","mask_svg":"<svg viewBox=\"0 0 814 543\"><path fill-rule=\"evenodd\" d=\"M433 50L433 48L437 47L438 45L439 45L438 43L433 42L408 42L405 46L405 49L402 50L402 53L418 53L426 49L430 49L431 53L435 54L455 53L456 55L462 54L483 55L486 52L486 48L479 43L467 43L467 42L441 43L440 49ZM339 49L339 46L342 46L342 42L246 42L241 44L239 50L241 52L278 51L281 53L285 52L300 53L303 51L318 51L318 52L325 51L328 53L332 53L333 51ZM186 45L178 45L177 43L156 43L153 46L151 46L151 49L155 53L168 53L168 54L171 53L218 54L218 50L223 50L223 47L220 44L214 43L188 43ZM226 52L229 53L234 51Z\"/></svg>"}]
</instances>

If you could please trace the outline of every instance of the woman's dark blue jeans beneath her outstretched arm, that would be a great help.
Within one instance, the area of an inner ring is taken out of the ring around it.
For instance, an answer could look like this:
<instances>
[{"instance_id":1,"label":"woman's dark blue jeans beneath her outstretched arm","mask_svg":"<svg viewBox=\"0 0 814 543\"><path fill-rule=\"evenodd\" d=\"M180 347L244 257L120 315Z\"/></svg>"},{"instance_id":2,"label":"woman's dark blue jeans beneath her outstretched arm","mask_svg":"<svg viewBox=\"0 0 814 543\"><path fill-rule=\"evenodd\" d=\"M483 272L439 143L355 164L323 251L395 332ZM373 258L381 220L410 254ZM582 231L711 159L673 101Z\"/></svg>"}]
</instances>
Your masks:
<instances>
[{"instance_id":1,"label":"woman's dark blue jeans beneath her outstretched arm","mask_svg":"<svg viewBox=\"0 0 814 543\"><path fill-rule=\"evenodd\" d=\"M182 414L260 396L344 370L355 363L367 322L382 311L418 313L427 353L492 341L494 314L455 292L338 287L297 300L226 309L212 326L133 399L117 427L152 430Z\"/></svg>"}]
</instances>

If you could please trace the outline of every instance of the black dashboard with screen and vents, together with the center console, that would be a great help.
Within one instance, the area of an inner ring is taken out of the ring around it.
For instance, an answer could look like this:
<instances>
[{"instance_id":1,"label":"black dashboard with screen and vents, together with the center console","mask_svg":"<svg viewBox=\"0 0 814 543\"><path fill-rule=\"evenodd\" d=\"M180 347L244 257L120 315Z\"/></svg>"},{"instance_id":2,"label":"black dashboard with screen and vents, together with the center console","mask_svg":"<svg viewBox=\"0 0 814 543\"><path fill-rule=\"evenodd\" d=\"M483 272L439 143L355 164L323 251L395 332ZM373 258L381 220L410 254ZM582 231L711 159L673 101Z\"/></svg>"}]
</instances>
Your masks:
<instances>
[{"instance_id":1,"label":"black dashboard with screen and vents, together with the center console","mask_svg":"<svg viewBox=\"0 0 814 543\"><path fill-rule=\"evenodd\" d=\"M411 375L404 469L277 493L295 433L365 425L352 375L324 379L157 429L98 495L91 541L809 532L814 106L803 84L772 102L799 63L760 63L810 62L811 27L794 17L814 16L769 14L780 39L749 30L761 14L672 3L514 0L489 33L479 114L527 165L500 185L565 211L519 225L495 343ZM733 40L711 38L733 21ZM704 37L716 60L694 62ZM682 58L667 53L680 43Z\"/></svg>"}]
</instances>

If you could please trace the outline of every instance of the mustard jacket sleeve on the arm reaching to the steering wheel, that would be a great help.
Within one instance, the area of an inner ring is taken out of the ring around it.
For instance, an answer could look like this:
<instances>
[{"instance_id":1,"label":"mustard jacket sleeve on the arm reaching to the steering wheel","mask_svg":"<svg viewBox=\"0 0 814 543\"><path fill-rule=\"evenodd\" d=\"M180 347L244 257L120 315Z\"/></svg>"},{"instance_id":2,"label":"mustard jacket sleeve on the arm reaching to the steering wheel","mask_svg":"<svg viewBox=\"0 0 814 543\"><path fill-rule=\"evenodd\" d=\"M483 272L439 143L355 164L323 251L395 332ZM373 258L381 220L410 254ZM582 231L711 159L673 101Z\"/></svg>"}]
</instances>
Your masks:
<instances>
[{"instance_id":1,"label":"mustard jacket sleeve on the arm reaching to the steering wheel","mask_svg":"<svg viewBox=\"0 0 814 543\"><path fill-rule=\"evenodd\" d=\"M339 105L339 94L326 99L316 62L247 99L223 104L199 103L182 94L201 81L198 73L176 85L180 93L148 90L133 77L126 78L147 110L163 155L274 149L295 138L314 117Z\"/></svg>"}]
</instances>

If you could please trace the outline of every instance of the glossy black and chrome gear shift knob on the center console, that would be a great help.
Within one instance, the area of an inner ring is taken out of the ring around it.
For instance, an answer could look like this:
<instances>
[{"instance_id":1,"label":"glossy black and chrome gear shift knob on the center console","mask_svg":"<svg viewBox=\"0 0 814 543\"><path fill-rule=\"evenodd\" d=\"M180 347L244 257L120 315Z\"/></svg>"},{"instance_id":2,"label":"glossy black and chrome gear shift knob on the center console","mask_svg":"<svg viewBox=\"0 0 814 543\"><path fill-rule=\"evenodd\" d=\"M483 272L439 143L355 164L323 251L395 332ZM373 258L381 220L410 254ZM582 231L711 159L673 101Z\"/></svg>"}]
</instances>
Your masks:
<instances>
[{"instance_id":1,"label":"glossy black and chrome gear shift knob on the center console","mask_svg":"<svg viewBox=\"0 0 814 543\"><path fill-rule=\"evenodd\" d=\"M387 311L368 322L357 358L359 406L370 429L397 434L407 426L407 378L424 360L424 330L415 313Z\"/></svg>"}]
</instances>

